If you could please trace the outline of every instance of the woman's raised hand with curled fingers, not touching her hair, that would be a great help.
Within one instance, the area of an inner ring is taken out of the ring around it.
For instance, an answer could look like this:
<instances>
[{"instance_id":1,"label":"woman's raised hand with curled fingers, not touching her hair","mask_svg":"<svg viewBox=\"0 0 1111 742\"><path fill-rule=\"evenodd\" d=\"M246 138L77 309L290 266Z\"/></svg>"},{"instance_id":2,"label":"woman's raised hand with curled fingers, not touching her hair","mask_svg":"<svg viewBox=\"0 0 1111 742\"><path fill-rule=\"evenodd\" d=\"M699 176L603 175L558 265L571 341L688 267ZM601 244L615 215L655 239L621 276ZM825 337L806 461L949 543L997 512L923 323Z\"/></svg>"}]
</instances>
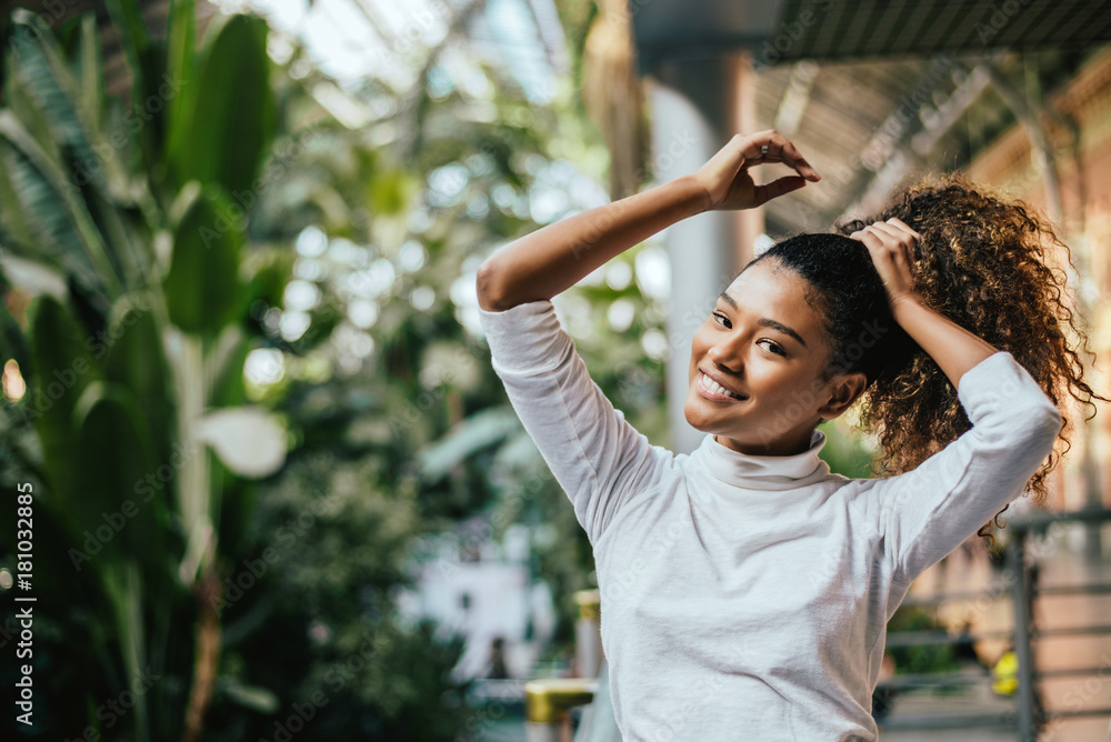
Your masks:
<instances>
[{"instance_id":1,"label":"woman's raised hand with curled fingers, not touching her hair","mask_svg":"<svg viewBox=\"0 0 1111 742\"><path fill-rule=\"evenodd\" d=\"M767 148L762 151L762 148ZM787 176L757 186L749 168L768 162L782 162L798 176ZM708 195L707 211L752 209L771 199L790 193L805 186L807 181L821 180L794 144L779 132L769 129L754 134L735 134L721 150L694 173Z\"/></svg>"}]
</instances>

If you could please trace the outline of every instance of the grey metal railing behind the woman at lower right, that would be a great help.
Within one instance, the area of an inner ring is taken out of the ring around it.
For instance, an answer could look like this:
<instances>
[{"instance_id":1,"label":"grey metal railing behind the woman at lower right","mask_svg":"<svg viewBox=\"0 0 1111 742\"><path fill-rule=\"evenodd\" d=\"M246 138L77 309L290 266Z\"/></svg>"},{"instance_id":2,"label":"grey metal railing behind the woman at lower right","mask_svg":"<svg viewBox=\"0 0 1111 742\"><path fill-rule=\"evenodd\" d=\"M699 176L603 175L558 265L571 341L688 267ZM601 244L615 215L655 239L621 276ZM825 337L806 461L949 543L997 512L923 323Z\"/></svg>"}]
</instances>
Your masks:
<instances>
[{"instance_id":1,"label":"grey metal railing behind the woman at lower right","mask_svg":"<svg viewBox=\"0 0 1111 742\"><path fill-rule=\"evenodd\" d=\"M1111 708L1081 708L1074 710L1044 709L1039 694L1038 683L1042 680L1058 678L1099 676L1109 672L1107 666L1065 668L1051 671L1038 671L1033 642L1041 639L1059 636L1088 636L1111 634L1111 623L1098 623L1087 626L1070 626L1063 629L1039 630L1033 625L1034 601L1063 595L1100 595L1111 594L1111 583L1092 583L1083 585L1041 586L1038 584L1038 569L1027 560L1027 541L1031 535L1044 534L1054 523L1073 522L1095 525L1111 522L1111 510L1088 510L1072 513L1057 513L1034 518L1014 520L1008 524L1011 542L1007 548L1005 569L1009 573L1010 586L1005 591L950 592L939 593L929 598L914 598L903 601L903 605L928 605L945 601L997 601L1010 599L1013 608L1013 628L1011 630L987 630L950 634L944 631L907 631L888 634L888 646L908 646L921 644L958 644L975 642L985 639L1010 639L1013 642L1018 659L1018 706L1013 712L945 716L884 719L885 729L943 729L954 726L1009 726L1019 733L1020 740L1034 740L1048 723L1079 716L1111 716ZM1109 614L1111 618L1111 614ZM878 690L905 690L929 686L974 685L990 681L990 676L969 676L957 673L929 673L919 675L895 675L880 683Z\"/></svg>"}]
</instances>

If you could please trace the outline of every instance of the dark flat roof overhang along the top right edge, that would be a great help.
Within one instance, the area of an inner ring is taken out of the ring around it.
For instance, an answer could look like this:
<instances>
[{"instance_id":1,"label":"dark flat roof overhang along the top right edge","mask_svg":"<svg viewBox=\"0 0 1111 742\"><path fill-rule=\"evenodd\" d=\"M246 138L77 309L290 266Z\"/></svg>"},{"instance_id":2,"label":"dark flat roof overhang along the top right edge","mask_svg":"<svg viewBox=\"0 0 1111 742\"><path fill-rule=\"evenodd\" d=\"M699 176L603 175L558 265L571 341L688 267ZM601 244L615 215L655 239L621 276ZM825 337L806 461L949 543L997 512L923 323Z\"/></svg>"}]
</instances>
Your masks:
<instances>
[{"instance_id":1,"label":"dark flat roof overhang along the top right edge","mask_svg":"<svg viewBox=\"0 0 1111 742\"><path fill-rule=\"evenodd\" d=\"M749 51L764 63L1012 51L1111 41L1099 0L630 0L642 70L665 57ZM697 10L697 12L693 12Z\"/></svg>"}]
</instances>

